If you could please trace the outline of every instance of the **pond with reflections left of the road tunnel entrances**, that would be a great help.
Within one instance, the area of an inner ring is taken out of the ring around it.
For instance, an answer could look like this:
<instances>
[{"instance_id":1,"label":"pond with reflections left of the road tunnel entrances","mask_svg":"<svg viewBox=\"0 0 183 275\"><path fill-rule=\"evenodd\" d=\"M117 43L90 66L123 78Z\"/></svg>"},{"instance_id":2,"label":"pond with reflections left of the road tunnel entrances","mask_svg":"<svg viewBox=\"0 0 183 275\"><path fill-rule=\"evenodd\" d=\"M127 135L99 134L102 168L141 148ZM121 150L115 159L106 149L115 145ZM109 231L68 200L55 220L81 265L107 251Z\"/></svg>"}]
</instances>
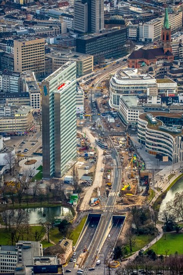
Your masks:
<instances>
[{"instance_id":1,"label":"pond with reflections left of the road tunnel entrances","mask_svg":"<svg viewBox=\"0 0 183 275\"><path fill-rule=\"evenodd\" d=\"M14 210L15 214L17 210ZM63 206L53 206L53 207L40 207L40 208L27 208L24 209L25 212L28 212L29 215L29 224L38 223L38 219L41 218L43 221L46 220L47 217L73 217L72 212L69 208ZM43 213L45 216L43 216Z\"/></svg>"}]
</instances>

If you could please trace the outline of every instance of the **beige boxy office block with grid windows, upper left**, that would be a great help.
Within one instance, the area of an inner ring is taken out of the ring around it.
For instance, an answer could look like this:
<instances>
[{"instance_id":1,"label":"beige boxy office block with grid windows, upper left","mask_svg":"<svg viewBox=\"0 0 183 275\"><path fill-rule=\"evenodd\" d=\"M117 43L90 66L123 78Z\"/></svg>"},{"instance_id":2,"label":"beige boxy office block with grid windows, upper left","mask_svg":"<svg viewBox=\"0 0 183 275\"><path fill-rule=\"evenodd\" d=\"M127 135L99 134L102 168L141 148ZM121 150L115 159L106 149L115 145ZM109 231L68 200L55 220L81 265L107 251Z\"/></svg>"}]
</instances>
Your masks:
<instances>
[{"instance_id":1,"label":"beige boxy office block with grid windows, upper left","mask_svg":"<svg viewBox=\"0 0 183 275\"><path fill-rule=\"evenodd\" d=\"M44 74L44 38L20 38L14 40L14 71L34 71Z\"/></svg>"}]
</instances>

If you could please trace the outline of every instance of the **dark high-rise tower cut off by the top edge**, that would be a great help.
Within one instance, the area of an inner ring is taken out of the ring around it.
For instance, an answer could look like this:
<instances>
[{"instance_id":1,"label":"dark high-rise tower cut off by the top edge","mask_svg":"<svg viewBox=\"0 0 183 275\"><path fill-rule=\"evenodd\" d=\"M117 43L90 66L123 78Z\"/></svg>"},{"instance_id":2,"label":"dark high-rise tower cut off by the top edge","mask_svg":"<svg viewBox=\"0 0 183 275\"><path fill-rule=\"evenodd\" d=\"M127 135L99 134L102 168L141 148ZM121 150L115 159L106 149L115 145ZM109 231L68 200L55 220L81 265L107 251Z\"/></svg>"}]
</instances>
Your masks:
<instances>
[{"instance_id":1,"label":"dark high-rise tower cut off by the top edge","mask_svg":"<svg viewBox=\"0 0 183 275\"><path fill-rule=\"evenodd\" d=\"M87 16L86 16L87 13ZM74 30L98 32L104 27L103 0L81 0L74 2Z\"/></svg>"}]
</instances>

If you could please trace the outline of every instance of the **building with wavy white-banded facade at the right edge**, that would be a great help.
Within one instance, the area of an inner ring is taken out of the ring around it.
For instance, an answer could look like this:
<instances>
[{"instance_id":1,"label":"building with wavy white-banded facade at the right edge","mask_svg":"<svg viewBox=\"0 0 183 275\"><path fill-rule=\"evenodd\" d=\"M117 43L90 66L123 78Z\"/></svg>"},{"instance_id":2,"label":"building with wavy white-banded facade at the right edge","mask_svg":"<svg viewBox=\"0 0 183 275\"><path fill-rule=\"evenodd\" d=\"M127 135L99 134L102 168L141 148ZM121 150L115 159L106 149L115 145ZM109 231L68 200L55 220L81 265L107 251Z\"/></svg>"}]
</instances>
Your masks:
<instances>
[{"instance_id":1,"label":"building with wavy white-banded facade at the right edge","mask_svg":"<svg viewBox=\"0 0 183 275\"><path fill-rule=\"evenodd\" d=\"M138 116L138 142L149 154L172 163L183 161L183 112L145 112ZM163 158L165 157L165 158Z\"/></svg>"}]
</instances>

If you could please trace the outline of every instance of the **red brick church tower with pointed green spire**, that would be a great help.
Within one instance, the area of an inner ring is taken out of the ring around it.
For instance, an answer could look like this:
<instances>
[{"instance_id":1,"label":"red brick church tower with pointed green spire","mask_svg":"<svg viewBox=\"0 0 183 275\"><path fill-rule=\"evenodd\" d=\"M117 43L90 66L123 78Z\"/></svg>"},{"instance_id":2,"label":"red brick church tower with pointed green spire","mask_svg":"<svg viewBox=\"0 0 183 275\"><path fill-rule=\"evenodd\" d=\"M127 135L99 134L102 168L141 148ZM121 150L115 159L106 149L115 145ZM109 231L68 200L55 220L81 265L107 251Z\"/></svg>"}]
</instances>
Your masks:
<instances>
[{"instance_id":1,"label":"red brick church tower with pointed green spire","mask_svg":"<svg viewBox=\"0 0 183 275\"><path fill-rule=\"evenodd\" d=\"M164 53L166 53L168 50L171 52L171 28L168 22L167 7L165 9L164 23L161 29L161 41L163 43Z\"/></svg>"}]
</instances>

